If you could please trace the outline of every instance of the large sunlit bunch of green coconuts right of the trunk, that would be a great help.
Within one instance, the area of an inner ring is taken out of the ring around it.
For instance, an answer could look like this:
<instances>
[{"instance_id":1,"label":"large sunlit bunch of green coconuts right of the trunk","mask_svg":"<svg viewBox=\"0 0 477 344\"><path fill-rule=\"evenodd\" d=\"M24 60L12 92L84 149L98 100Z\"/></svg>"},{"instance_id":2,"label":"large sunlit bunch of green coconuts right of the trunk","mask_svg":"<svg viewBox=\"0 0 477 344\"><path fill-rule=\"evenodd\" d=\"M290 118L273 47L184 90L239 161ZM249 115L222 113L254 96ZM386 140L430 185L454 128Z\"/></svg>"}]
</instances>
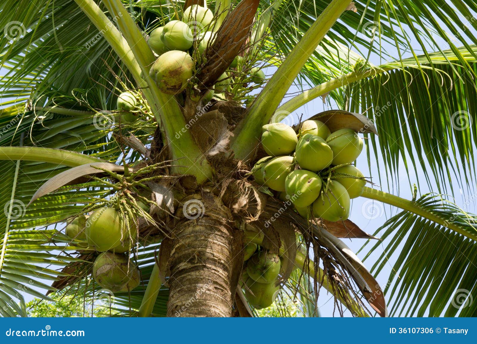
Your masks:
<instances>
[{"instance_id":1,"label":"large sunlit bunch of green coconuts right of the trunk","mask_svg":"<svg viewBox=\"0 0 477 344\"><path fill-rule=\"evenodd\" d=\"M305 218L336 222L350 215L350 199L363 194L363 173L353 162L363 140L350 128L331 132L321 121L307 120L298 135L290 126L262 127L261 143L269 154L252 168L259 185L280 192Z\"/></svg>"}]
</instances>

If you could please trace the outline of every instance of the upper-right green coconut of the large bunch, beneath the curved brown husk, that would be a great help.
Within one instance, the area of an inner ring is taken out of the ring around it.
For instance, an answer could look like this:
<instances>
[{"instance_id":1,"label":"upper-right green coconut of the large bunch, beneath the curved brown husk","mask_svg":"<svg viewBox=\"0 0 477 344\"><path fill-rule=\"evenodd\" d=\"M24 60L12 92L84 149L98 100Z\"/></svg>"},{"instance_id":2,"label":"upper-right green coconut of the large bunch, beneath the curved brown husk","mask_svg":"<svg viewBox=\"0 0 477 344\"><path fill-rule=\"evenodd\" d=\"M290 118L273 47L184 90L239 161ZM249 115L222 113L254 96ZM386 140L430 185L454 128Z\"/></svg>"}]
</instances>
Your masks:
<instances>
[{"instance_id":1,"label":"upper-right green coconut of the large bunch, beneath the curved brown husk","mask_svg":"<svg viewBox=\"0 0 477 344\"><path fill-rule=\"evenodd\" d=\"M363 140L353 129L340 129L326 139L333 151L332 165L351 164L363 150Z\"/></svg>"}]
</instances>

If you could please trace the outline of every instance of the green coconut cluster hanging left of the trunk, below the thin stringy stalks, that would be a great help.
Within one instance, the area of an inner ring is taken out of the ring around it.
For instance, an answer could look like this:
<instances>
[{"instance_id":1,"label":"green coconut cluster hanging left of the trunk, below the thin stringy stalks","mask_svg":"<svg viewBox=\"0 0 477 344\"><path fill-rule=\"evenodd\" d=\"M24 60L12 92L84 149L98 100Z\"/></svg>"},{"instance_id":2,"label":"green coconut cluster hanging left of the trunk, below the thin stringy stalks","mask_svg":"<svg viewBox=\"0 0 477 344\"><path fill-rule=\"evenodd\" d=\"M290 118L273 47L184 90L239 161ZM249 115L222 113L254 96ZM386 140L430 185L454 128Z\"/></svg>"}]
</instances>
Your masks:
<instances>
[{"instance_id":1,"label":"green coconut cluster hanging left of the trunk, below the thin stringy stalks","mask_svg":"<svg viewBox=\"0 0 477 344\"><path fill-rule=\"evenodd\" d=\"M127 253L135 246L136 235L122 224L116 209L103 207L87 217L77 216L65 234L79 240L80 246L101 252L94 261L93 278L102 288L126 292L139 285L139 270Z\"/></svg>"}]
</instances>

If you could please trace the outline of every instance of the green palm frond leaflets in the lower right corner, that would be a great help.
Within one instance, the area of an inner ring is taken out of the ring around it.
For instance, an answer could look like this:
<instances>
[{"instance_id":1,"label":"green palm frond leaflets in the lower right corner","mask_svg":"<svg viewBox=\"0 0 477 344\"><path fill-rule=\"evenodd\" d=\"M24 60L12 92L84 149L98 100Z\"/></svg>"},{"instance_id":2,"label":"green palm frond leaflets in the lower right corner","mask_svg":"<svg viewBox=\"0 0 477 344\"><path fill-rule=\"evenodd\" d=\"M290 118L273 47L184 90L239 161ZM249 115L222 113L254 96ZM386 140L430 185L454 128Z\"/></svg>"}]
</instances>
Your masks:
<instances>
[{"instance_id":1,"label":"green palm frond leaflets in the lower right corner","mask_svg":"<svg viewBox=\"0 0 477 344\"><path fill-rule=\"evenodd\" d=\"M415 202L469 232L477 230L476 215L436 194ZM373 246L368 242L362 248L368 251L366 259L384 246L371 272L384 273L385 265L396 256L384 290L391 316L477 315L477 305L467 299L477 292L474 240L406 211L387 220L375 235L383 242Z\"/></svg>"}]
</instances>

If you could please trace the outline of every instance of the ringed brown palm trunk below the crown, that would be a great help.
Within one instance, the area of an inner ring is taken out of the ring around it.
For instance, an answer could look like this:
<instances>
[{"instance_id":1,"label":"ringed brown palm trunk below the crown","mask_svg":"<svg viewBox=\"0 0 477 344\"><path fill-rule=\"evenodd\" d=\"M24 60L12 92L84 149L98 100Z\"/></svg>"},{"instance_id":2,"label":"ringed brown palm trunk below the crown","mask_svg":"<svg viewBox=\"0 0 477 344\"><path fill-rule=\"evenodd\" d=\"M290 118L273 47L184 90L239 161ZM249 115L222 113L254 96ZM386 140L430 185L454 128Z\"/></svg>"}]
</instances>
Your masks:
<instances>
[{"instance_id":1,"label":"ringed brown palm trunk below the crown","mask_svg":"<svg viewBox=\"0 0 477 344\"><path fill-rule=\"evenodd\" d=\"M238 241L232 216L212 194L187 198L191 203L182 207L186 218L176 226L171 245L167 315L231 316L237 285L233 276L240 266L235 264ZM198 212L188 215L191 205ZM203 216L190 219L197 215Z\"/></svg>"}]
</instances>

